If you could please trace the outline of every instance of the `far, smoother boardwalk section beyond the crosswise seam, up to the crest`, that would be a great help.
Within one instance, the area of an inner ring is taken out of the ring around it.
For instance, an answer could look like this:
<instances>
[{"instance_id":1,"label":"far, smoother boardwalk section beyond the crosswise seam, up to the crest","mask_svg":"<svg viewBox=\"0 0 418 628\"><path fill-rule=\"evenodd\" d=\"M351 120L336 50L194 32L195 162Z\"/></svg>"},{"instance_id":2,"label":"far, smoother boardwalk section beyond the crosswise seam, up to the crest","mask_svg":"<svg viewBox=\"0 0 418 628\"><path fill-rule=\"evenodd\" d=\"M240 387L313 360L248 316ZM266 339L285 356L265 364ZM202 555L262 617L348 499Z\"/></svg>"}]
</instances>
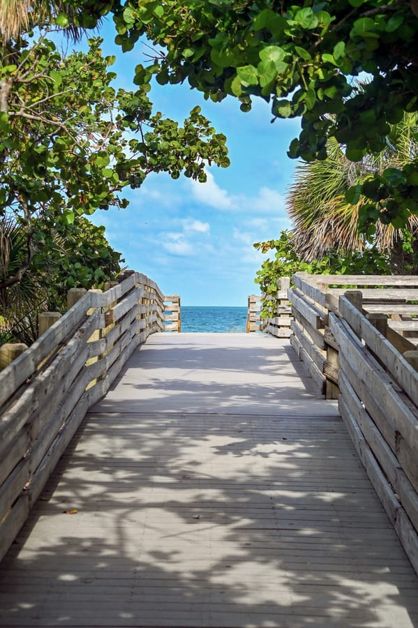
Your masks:
<instances>
[{"instance_id":1,"label":"far, smoother boardwalk section beyond the crosswise seam, up to the crest","mask_svg":"<svg viewBox=\"0 0 418 628\"><path fill-rule=\"evenodd\" d=\"M216 344L216 338L208 341L200 334L164 336L133 353L94 410L301 414L308 401L313 414L337 414L336 403L318 403L313 382L288 341L221 334L225 337Z\"/></svg>"}]
</instances>

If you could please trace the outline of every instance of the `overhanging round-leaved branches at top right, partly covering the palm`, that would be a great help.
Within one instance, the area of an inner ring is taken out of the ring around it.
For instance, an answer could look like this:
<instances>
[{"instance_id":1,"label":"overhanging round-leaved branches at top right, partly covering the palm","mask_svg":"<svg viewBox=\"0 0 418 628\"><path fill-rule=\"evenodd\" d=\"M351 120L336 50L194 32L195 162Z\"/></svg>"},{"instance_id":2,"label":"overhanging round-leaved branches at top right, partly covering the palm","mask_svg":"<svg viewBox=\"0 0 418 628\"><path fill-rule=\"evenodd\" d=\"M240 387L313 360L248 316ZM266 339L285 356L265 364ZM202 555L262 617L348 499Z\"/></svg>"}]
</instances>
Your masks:
<instances>
[{"instance_id":1,"label":"overhanging round-leaved branches at top right, partly covering the palm","mask_svg":"<svg viewBox=\"0 0 418 628\"><path fill-rule=\"evenodd\" d=\"M329 137L354 162L379 154L390 142L389 125L418 110L416 2L127 0L113 11L123 50L142 34L162 50L141 66L140 80L188 80L216 102L239 98L243 111L264 98L273 121L301 116L292 158L323 159ZM353 77L361 73L371 81L360 89ZM364 223L383 211L402 227L418 214L417 170L415 154L398 172L371 174L361 190L370 200Z\"/></svg>"}]
</instances>

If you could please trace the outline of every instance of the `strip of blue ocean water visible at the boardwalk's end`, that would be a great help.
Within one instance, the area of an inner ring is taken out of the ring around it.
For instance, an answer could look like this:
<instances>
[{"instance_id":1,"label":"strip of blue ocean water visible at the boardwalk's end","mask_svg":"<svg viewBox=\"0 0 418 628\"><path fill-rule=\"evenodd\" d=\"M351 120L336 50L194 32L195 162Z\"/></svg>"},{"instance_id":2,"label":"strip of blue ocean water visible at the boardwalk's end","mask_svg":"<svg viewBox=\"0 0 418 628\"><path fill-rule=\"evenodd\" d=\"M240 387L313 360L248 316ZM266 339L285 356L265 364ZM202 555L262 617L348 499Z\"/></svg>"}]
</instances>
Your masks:
<instances>
[{"instance_id":1,"label":"strip of blue ocean water visible at the boardwalk's end","mask_svg":"<svg viewBox=\"0 0 418 628\"><path fill-rule=\"evenodd\" d=\"M181 306L181 331L246 331L246 307Z\"/></svg>"}]
</instances>

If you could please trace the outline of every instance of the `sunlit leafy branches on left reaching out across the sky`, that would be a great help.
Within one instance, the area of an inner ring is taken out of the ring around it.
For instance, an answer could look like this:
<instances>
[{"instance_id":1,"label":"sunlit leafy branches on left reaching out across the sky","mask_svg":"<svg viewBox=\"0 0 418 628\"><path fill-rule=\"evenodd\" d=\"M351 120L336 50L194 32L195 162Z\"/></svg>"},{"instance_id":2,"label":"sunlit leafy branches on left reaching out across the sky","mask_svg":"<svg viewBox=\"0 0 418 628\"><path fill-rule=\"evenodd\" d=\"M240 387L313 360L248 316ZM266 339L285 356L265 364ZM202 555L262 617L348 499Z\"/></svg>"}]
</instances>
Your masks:
<instances>
[{"instance_id":1,"label":"sunlit leafy branches on left reaching out across the sky","mask_svg":"<svg viewBox=\"0 0 418 628\"><path fill-rule=\"evenodd\" d=\"M70 222L125 207L119 193L139 187L149 172L202 180L205 163L228 165L225 136L199 107L180 127L153 114L147 83L115 92L114 59L102 57L100 41L66 58L46 39L3 50L0 214L48 208Z\"/></svg>"}]
</instances>

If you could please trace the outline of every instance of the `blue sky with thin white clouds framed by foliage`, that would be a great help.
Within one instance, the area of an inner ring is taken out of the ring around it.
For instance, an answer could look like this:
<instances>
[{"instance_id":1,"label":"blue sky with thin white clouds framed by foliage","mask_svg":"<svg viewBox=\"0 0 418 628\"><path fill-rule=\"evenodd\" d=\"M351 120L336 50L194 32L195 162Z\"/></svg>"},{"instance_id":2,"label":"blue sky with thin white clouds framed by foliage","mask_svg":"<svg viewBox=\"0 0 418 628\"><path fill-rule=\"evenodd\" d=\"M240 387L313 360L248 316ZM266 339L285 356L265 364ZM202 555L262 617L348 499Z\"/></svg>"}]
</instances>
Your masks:
<instances>
[{"instance_id":1,"label":"blue sky with thin white clouds framed by foliage","mask_svg":"<svg viewBox=\"0 0 418 628\"><path fill-rule=\"evenodd\" d=\"M132 84L137 63L145 63L149 50L138 42L123 54L114 45L112 24L105 24L104 54L116 54L116 84ZM180 294L181 303L245 306L248 294L257 294L255 272L265 255L253 242L278 237L290 227L285 191L295 162L286 156L299 121L270 123L269 105L254 102L243 113L239 102L204 100L188 86L153 86L156 110L182 121L195 105L225 133L231 165L211 167L206 184L185 177L176 181L165 174L151 175L139 190L128 190L127 209L97 211L94 223L106 227L110 244L123 254L126 265L158 283L165 294Z\"/></svg>"}]
</instances>

